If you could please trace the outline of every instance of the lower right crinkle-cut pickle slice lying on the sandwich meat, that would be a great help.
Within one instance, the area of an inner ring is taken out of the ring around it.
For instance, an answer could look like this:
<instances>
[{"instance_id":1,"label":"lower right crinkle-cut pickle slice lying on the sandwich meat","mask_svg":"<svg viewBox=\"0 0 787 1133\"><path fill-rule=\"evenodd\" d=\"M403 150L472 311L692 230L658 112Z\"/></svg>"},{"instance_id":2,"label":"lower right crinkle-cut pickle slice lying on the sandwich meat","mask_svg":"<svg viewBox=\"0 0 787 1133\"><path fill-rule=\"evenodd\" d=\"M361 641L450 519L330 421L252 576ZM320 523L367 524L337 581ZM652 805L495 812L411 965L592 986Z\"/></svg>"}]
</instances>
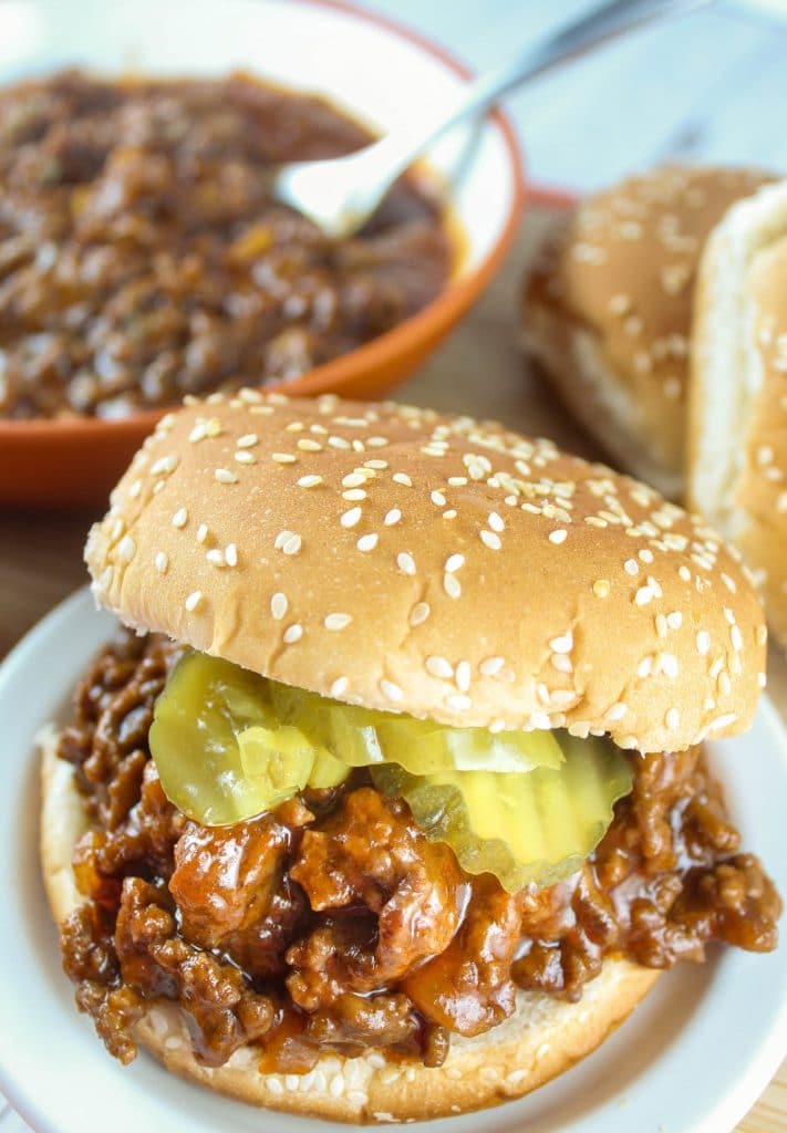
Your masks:
<instances>
[{"instance_id":1,"label":"lower right crinkle-cut pickle slice lying on the sandwich meat","mask_svg":"<svg viewBox=\"0 0 787 1133\"><path fill-rule=\"evenodd\" d=\"M515 893L579 869L632 787L629 763L612 743L559 735L566 753L559 769L413 775L375 764L370 770L375 786L404 798L428 837L447 842L468 874L494 874Z\"/></svg>"}]
</instances>

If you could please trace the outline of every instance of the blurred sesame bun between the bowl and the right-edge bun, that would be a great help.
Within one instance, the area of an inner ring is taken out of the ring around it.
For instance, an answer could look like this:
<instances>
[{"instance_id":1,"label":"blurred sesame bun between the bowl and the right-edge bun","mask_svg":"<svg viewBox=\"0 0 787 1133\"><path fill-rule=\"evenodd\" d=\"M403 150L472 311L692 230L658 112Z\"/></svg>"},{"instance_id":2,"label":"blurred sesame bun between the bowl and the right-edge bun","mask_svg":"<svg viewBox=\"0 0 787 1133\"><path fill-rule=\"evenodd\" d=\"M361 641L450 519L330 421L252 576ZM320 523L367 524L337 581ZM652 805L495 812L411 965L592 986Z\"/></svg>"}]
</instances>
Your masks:
<instances>
[{"instance_id":1,"label":"blurred sesame bun between the bowl and the right-edge bun","mask_svg":"<svg viewBox=\"0 0 787 1133\"><path fill-rule=\"evenodd\" d=\"M765 173L662 167L589 197L525 284L525 348L621 467L679 495L694 276L727 208Z\"/></svg>"}]
</instances>

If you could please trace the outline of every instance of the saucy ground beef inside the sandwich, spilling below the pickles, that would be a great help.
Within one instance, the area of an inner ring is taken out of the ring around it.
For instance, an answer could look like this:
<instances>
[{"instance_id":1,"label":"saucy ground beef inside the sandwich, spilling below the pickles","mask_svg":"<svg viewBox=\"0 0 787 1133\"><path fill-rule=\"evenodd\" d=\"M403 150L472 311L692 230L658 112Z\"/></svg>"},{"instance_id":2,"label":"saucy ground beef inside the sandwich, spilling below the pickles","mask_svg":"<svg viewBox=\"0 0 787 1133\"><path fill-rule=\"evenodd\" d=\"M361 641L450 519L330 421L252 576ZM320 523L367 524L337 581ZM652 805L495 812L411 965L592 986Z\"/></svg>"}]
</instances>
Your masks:
<instances>
[{"instance_id":1,"label":"saucy ground beef inside the sandwich, spilling below the pickles","mask_svg":"<svg viewBox=\"0 0 787 1133\"><path fill-rule=\"evenodd\" d=\"M362 773L200 826L166 799L146 744L181 653L122 634L81 682L60 741L92 823L64 966L121 1062L146 1006L169 999L209 1066L247 1043L265 1071L370 1048L438 1066L451 1032L509 1016L516 988L576 1000L606 955L670 968L712 942L776 946L779 897L739 852L699 749L632 756L634 790L582 872L514 895L464 874Z\"/></svg>"}]
</instances>

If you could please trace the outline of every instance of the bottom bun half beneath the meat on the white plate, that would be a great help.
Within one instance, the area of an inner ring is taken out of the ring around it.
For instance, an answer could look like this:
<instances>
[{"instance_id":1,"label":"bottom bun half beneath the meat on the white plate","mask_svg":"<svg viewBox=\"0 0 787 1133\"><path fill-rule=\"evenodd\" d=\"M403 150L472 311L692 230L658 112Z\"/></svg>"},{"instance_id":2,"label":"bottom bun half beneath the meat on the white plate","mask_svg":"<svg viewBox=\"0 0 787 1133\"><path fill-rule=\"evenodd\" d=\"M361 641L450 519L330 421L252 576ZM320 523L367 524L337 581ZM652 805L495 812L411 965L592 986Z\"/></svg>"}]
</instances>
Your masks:
<instances>
[{"instance_id":1,"label":"bottom bun half beneath the meat on the white plate","mask_svg":"<svg viewBox=\"0 0 787 1133\"><path fill-rule=\"evenodd\" d=\"M71 853L84 815L73 770L54 753L56 739L53 732L42 738L41 858L52 913L60 922L81 901ZM519 993L511 1019L476 1039L455 1037L439 1070L389 1065L379 1054L350 1059L324 1055L308 1074L262 1074L248 1048L210 1070L192 1055L180 1010L164 1000L136 1024L135 1037L176 1074L270 1109L346 1122L442 1117L522 1097L560 1074L623 1022L658 976L628 961L607 960L579 1004Z\"/></svg>"}]
</instances>

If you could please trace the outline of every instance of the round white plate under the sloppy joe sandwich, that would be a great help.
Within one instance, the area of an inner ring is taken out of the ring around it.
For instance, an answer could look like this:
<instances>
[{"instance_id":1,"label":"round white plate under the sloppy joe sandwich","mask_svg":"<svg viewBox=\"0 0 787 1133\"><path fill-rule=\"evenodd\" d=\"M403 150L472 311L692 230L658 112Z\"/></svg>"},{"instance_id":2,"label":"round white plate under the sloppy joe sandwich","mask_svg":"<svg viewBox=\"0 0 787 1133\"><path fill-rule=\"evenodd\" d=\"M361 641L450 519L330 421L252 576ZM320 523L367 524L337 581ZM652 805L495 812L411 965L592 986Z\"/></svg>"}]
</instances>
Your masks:
<instances>
[{"instance_id":1,"label":"round white plate under the sloppy joe sandwich","mask_svg":"<svg viewBox=\"0 0 787 1133\"><path fill-rule=\"evenodd\" d=\"M39 874L34 736L65 718L76 678L112 628L79 591L0 666L0 1089L39 1133L308 1133L313 1122L211 1094L146 1055L121 1067L74 1007ZM711 755L745 846L787 894L787 739L771 706L763 702L746 736L711 744ZM768 956L726 949L665 976L599 1051L530 1098L417 1127L723 1133L786 1050L787 947Z\"/></svg>"}]
</instances>

